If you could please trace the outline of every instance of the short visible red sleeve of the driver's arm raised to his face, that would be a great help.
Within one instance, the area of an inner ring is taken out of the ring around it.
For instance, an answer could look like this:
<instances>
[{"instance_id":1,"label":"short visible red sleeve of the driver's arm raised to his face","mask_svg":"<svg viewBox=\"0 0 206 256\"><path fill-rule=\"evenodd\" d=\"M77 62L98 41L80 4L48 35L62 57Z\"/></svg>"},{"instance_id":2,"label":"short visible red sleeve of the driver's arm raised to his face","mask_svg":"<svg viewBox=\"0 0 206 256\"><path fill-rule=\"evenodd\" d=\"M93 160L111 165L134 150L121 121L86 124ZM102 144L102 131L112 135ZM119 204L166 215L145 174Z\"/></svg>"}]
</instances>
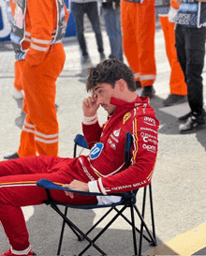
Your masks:
<instances>
[{"instance_id":1,"label":"short visible red sleeve of the driver's arm raised to his face","mask_svg":"<svg viewBox=\"0 0 206 256\"><path fill-rule=\"evenodd\" d=\"M90 148L92 148L95 143L99 142L102 128L99 126L98 122L89 126L82 124L82 130L84 138Z\"/></svg>"}]
</instances>

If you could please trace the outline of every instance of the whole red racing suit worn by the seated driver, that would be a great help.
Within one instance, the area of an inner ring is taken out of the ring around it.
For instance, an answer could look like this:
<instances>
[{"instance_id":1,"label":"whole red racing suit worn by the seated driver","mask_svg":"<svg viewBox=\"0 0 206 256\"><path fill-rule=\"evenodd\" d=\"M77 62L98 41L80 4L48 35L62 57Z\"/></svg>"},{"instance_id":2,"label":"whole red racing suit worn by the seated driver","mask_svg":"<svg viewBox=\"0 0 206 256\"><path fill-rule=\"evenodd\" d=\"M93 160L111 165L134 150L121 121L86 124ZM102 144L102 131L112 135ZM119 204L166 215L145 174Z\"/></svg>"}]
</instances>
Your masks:
<instances>
[{"instance_id":1,"label":"whole red racing suit worn by the seated driver","mask_svg":"<svg viewBox=\"0 0 206 256\"><path fill-rule=\"evenodd\" d=\"M158 120L148 98L131 103L111 98L116 105L114 113L101 128L97 118L83 124L83 133L89 145L97 142L90 156L57 158L50 156L17 158L0 162L0 221L15 250L29 247L21 206L36 205L47 199L37 180L50 179L57 184L69 184L78 179L89 184L90 191L104 194L144 187L151 182L157 154ZM125 133L133 136L131 166L125 167ZM96 203L96 197L74 195L51 190L51 197L61 203Z\"/></svg>"}]
</instances>

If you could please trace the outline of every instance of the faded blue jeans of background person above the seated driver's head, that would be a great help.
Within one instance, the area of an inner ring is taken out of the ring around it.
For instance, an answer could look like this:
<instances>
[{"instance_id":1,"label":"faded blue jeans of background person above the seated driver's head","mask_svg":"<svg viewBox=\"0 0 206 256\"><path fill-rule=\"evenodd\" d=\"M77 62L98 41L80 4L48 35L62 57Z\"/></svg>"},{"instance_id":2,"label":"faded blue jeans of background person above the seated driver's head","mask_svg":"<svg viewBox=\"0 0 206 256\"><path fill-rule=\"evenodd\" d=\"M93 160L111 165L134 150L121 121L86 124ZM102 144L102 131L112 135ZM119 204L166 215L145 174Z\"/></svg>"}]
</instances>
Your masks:
<instances>
[{"instance_id":1,"label":"faded blue jeans of background person above the seated driver's head","mask_svg":"<svg viewBox=\"0 0 206 256\"><path fill-rule=\"evenodd\" d=\"M105 28L110 40L110 58L123 61L123 38L120 23L120 7L102 8Z\"/></svg>"}]
</instances>

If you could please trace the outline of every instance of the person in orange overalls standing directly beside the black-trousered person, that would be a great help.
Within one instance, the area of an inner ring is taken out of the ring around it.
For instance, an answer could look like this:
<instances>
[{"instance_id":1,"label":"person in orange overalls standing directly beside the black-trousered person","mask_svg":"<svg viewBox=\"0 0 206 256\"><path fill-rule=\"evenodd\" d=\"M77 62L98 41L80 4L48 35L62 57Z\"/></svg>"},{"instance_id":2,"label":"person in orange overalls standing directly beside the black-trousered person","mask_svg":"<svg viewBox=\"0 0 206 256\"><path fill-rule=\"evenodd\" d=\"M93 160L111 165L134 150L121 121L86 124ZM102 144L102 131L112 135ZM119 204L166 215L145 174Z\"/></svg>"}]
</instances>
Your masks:
<instances>
[{"instance_id":1,"label":"person in orange overalls standing directly beside the black-trousered person","mask_svg":"<svg viewBox=\"0 0 206 256\"><path fill-rule=\"evenodd\" d=\"M171 0L170 3L169 1L165 1L165 6L158 7L157 3L158 0L155 1L155 8L164 33L166 53L171 68L169 79L170 94L168 98L163 100L163 105L172 106L187 100L187 88L186 83L184 82L184 73L177 60L177 51L175 48L175 23L172 21L176 10L179 8L179 4L177 4L175 0ZM164 3L164 1L161 1L161 3Z\"/></svg>"}]
</instances>

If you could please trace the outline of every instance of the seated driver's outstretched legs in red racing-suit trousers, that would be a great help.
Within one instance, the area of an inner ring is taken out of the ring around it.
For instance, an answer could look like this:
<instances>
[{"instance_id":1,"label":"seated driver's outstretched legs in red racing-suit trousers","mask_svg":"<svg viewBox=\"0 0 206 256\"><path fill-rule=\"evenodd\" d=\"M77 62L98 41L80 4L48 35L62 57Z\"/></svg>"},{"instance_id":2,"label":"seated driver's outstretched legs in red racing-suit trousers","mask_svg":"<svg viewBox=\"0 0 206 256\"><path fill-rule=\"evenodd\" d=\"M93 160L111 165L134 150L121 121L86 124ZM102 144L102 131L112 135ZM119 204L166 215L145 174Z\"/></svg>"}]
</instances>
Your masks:
<instances>
[{"instance_id":1,"label":"seated driver's outstretched legs in red racing-suit trousers","mask_svg":"<svg viewBox=\"0 0 206 256\"><path fill-rule=\"evenodd\" d=\"M79 178L75 168L73 159L48 156L0 162L0 221L13 249L29 247L29 234L21 206L41 204L47 199L46 190L37 187L37 180L46 178L58 184L68 184L74 177ZM86 176L83 178L81 175L80 179L88 182ZM86 196L82 199L82 196L75 195L71 199L61 190L52 190L51 197L67 204L96 203L96 197Z\"/></svg>"}]
</instances>

